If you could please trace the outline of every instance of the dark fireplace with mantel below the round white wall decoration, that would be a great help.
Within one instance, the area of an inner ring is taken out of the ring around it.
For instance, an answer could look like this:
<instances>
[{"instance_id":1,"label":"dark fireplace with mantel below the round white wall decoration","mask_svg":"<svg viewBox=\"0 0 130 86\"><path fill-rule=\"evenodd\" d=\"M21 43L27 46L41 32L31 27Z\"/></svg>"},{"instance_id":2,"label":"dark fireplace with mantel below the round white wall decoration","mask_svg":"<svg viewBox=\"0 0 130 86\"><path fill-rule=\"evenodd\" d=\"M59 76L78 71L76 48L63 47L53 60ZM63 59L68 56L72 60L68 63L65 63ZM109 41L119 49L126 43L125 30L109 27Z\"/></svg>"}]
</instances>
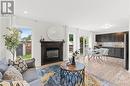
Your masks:
<instances>
[{"instance_id":1,"label":"dark fireplace with mantel below the round white wall decoration","mask_svg":"<svg viewBox=\"0 0 130 86\"><path fill-rule=\"evenodd\" d=\"M63 61L64 41L40 41L41 65Z\"/></svg>"}]
</instances>

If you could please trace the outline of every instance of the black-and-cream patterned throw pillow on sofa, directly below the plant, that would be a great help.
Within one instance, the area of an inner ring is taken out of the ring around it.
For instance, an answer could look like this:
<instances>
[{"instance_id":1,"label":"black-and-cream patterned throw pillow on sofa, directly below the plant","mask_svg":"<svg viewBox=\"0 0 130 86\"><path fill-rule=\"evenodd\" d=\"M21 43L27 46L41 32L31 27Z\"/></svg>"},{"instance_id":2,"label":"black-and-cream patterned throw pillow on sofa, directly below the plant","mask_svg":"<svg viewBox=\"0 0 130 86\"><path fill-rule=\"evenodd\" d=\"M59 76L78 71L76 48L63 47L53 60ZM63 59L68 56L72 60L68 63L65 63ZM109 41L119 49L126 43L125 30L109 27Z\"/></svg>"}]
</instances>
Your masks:
<instances>
[{"instance_id":1,"label":"black-and-cream patterned throw pillow on sofa, directly below the plant","mask_svg":"<svg viewBox=\"0 0 130 86\"><path fill-rule=\"evenodd\" d=\"M26 62L22 58L17 58L15 61L10 61L9 64L14 66L21 73L28 69Z\"/></svg>"}]
</instances>

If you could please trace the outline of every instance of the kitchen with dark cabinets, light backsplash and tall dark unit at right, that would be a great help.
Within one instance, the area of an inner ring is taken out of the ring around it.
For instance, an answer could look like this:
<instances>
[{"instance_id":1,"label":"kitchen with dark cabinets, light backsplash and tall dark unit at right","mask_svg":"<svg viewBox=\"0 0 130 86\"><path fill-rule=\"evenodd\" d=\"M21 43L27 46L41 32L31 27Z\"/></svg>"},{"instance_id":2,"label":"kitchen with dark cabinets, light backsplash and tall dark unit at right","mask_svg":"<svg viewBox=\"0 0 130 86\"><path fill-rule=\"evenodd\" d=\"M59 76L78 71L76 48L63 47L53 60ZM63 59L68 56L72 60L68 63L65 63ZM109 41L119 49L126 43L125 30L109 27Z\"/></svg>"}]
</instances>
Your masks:
<instances>
[{"instance_id":1,"label":"kitchen with dark cabinets, light backsplash and tall dark unit at right","mask_svg":"<svg viewBox=\"0 0 130 86\"><path fill-rule=\"evenodd\" d=\"M95 35L95 48L109 49L108 57L123 59L128 70L128 32L106 33Z\"/></svg>"}]
</instances>

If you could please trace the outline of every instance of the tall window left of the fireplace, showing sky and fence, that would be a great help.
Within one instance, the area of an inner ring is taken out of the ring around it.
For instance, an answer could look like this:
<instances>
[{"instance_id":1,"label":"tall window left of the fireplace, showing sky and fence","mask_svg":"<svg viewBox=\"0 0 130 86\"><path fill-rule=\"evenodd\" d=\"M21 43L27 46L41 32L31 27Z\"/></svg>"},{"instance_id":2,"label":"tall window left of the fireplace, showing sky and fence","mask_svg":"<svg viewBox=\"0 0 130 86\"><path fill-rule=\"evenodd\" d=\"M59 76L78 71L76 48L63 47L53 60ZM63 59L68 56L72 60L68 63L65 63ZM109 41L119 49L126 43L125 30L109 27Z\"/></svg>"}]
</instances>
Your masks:
<instances>
[{"instance_id":1,"label":"tall window left of the fireplace, showing sky and fence","mask_svg":"<svg viewBox=\"0 0 130 86\"><path fill-rule=\"evenodd\" d=\"M32 58L32 30L29 28L21 28L20 31L21 43L16 49L16 56L21 56L23 59L28 60Z\"/></svg>"}]
</instances>

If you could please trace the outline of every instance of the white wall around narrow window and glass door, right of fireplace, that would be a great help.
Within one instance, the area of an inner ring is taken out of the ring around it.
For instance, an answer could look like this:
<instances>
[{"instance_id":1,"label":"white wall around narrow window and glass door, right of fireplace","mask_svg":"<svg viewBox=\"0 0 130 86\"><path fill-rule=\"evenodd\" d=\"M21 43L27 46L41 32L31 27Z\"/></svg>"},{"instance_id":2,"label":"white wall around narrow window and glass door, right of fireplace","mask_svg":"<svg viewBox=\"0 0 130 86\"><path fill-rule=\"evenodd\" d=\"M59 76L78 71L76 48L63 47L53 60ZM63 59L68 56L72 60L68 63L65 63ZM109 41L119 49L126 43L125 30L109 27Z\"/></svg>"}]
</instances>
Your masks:
<instances>
[{"instance_id":1,"label":"white wall around narrow window and glass door, right of fireplace","mask_svg":"<svg viewBox=\"0 0 130 86\"><path fill-rule=\"evenodd\" d=\"M82 30L79 28L67 27L67 57L69 56L69 34L74 34L74 51L80 49L80 37L89 37L89 48L93 48L94 34L93 32ZM85 51L85 50L84 50ZM83 54L85 55L85 53Z\"/></svg>"}]
</instances>

